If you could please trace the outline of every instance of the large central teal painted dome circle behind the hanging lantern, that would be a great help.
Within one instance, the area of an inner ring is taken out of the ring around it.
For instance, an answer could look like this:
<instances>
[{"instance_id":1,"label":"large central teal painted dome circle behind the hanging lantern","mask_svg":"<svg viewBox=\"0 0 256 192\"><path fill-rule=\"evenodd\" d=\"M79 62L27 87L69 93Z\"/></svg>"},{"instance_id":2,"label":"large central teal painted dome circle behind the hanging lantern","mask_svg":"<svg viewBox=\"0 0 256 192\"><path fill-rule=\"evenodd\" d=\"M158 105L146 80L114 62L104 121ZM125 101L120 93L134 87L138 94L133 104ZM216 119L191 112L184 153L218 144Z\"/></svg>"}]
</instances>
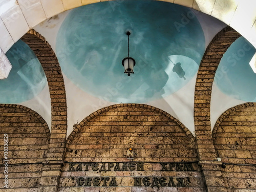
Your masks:
<instances>
[{"instance_id":1,"label":"large central teal painted dome circle behind the hanging lantern","mask_svg":"<svg viewBox=\"0 0 256 192\"><path fill-rule=\"evenodd\" d=\"M155 1L91 4L62 23L56 51L63 73L81 90L118 103L142 103L182 88L197 72L205 49L195 15L183 6ZM136 60L125 75L122 59ZM203 45L203 46L202 46Z\"/></svg>"}]
</instances>

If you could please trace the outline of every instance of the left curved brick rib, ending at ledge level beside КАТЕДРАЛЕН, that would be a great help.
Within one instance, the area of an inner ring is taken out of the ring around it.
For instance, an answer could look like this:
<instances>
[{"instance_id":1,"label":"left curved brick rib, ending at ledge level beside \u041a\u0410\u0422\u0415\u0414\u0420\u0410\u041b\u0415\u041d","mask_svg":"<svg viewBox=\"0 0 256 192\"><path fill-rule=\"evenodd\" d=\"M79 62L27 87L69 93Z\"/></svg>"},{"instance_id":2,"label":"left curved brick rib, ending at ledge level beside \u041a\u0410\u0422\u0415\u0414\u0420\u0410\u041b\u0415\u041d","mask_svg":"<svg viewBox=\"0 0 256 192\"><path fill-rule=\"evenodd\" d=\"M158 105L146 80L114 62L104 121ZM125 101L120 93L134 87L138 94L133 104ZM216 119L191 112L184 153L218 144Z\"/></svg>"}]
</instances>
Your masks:
<instances>
[{"instance_id":1,"label":"left curved brick rib, ending at ledge level beside \u041a\u0410\u0422\u0415\u0414\u0420\u0410\u041b\u0415\u041d","mask_svg":"<svg viewBox=\"0 0 256 192\"><path fill-rule=\"evenodd\" d=\"M35 53L45 71L51 97L51 139L48 161L61 163L67 134L67 100L57 56L45 37L31 29L21 38ZM61 150L60 150L61 148Z\"/></svg>"}]
</instances>

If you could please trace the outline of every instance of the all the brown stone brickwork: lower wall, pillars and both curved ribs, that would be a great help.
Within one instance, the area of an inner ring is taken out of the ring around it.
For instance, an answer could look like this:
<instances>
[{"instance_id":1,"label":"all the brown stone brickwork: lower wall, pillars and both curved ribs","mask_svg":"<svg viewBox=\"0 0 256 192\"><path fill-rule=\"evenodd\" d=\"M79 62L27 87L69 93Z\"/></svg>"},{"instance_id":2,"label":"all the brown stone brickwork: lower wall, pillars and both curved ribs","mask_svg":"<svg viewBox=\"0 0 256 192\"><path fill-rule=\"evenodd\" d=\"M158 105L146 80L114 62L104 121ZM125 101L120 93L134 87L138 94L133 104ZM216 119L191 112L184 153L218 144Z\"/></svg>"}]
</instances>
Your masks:
<instances>
[{"instance_id":1,"label":"all the brown stone brickwork: lower wall, pillars and both curved ribs","mask_svg":"<svg viewBox=\"0 0 256 192\"><path fill-rule=\"evenodd\" d=\"M30 30L22 39L45 70L52 129L50 134L46 122L22 105L0 105L0 134L9 138L9 189L0 182L0 191L254 192L255 104L227 110L210 129L215 72L239 36L225 28L203 56L195 87L196 137L153 106L117 104L84 118L66 140L67 101L59 63L46 39ZM1 164L1 179L3 170Z\"/></svg>"}]
</instances>

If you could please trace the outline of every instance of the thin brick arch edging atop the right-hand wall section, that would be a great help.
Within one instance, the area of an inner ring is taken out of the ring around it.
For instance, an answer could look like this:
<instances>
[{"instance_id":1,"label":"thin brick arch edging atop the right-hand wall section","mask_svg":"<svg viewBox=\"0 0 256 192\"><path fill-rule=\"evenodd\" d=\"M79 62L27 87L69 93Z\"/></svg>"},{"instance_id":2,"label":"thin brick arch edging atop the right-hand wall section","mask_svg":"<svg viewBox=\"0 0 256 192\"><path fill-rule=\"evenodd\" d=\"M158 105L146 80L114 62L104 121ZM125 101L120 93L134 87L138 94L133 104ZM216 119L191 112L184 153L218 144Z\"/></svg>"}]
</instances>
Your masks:
<instances>
[{"instance_id":1,"label":"thin brick arch edging atop the right-hand wall section","mask_svg":"<svg viewBox=\"0 0 256 192\"><path fill-rule=\"evenodd\" d=\"M216 137L216 133L217 133L217 130L220 126L220 124L222 123L222 121L228 116L230 115L231 113L233 112L236 112L237 110L240 110L240 109L245 109L245 108L248 108L248 107L251 107L251 106L254 106L255 103L253 102L247 102L247 103L243 103L243 104L239 104L237 106L233 106L232 108L229 108L227 111L225 111L219 118L218 120L216 121L215 125L214 125L214 129L212 130L212 137L215 138Z\"/></svg>"}]
</instances>

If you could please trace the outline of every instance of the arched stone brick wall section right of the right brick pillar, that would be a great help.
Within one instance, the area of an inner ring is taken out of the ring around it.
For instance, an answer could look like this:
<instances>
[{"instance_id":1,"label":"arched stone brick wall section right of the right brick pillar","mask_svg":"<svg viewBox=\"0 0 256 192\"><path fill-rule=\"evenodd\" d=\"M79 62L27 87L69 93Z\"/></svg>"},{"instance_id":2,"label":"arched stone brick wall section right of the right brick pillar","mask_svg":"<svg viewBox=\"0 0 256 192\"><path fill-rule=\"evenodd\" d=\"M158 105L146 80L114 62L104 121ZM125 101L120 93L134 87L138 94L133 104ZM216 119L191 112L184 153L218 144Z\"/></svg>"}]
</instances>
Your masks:
<instances>
[{"instance_id":1,"label":"arched stone brick wall section right of the right brick pillar","mask_svg":"<svg viewBox=\"0 0 256 192\"><path fill-rule=\"evenodd\" d=\"M228 192L256 190L256 104L227 110L213 131L214 144L223 165Z\"/></svg>"}]
</instances>

